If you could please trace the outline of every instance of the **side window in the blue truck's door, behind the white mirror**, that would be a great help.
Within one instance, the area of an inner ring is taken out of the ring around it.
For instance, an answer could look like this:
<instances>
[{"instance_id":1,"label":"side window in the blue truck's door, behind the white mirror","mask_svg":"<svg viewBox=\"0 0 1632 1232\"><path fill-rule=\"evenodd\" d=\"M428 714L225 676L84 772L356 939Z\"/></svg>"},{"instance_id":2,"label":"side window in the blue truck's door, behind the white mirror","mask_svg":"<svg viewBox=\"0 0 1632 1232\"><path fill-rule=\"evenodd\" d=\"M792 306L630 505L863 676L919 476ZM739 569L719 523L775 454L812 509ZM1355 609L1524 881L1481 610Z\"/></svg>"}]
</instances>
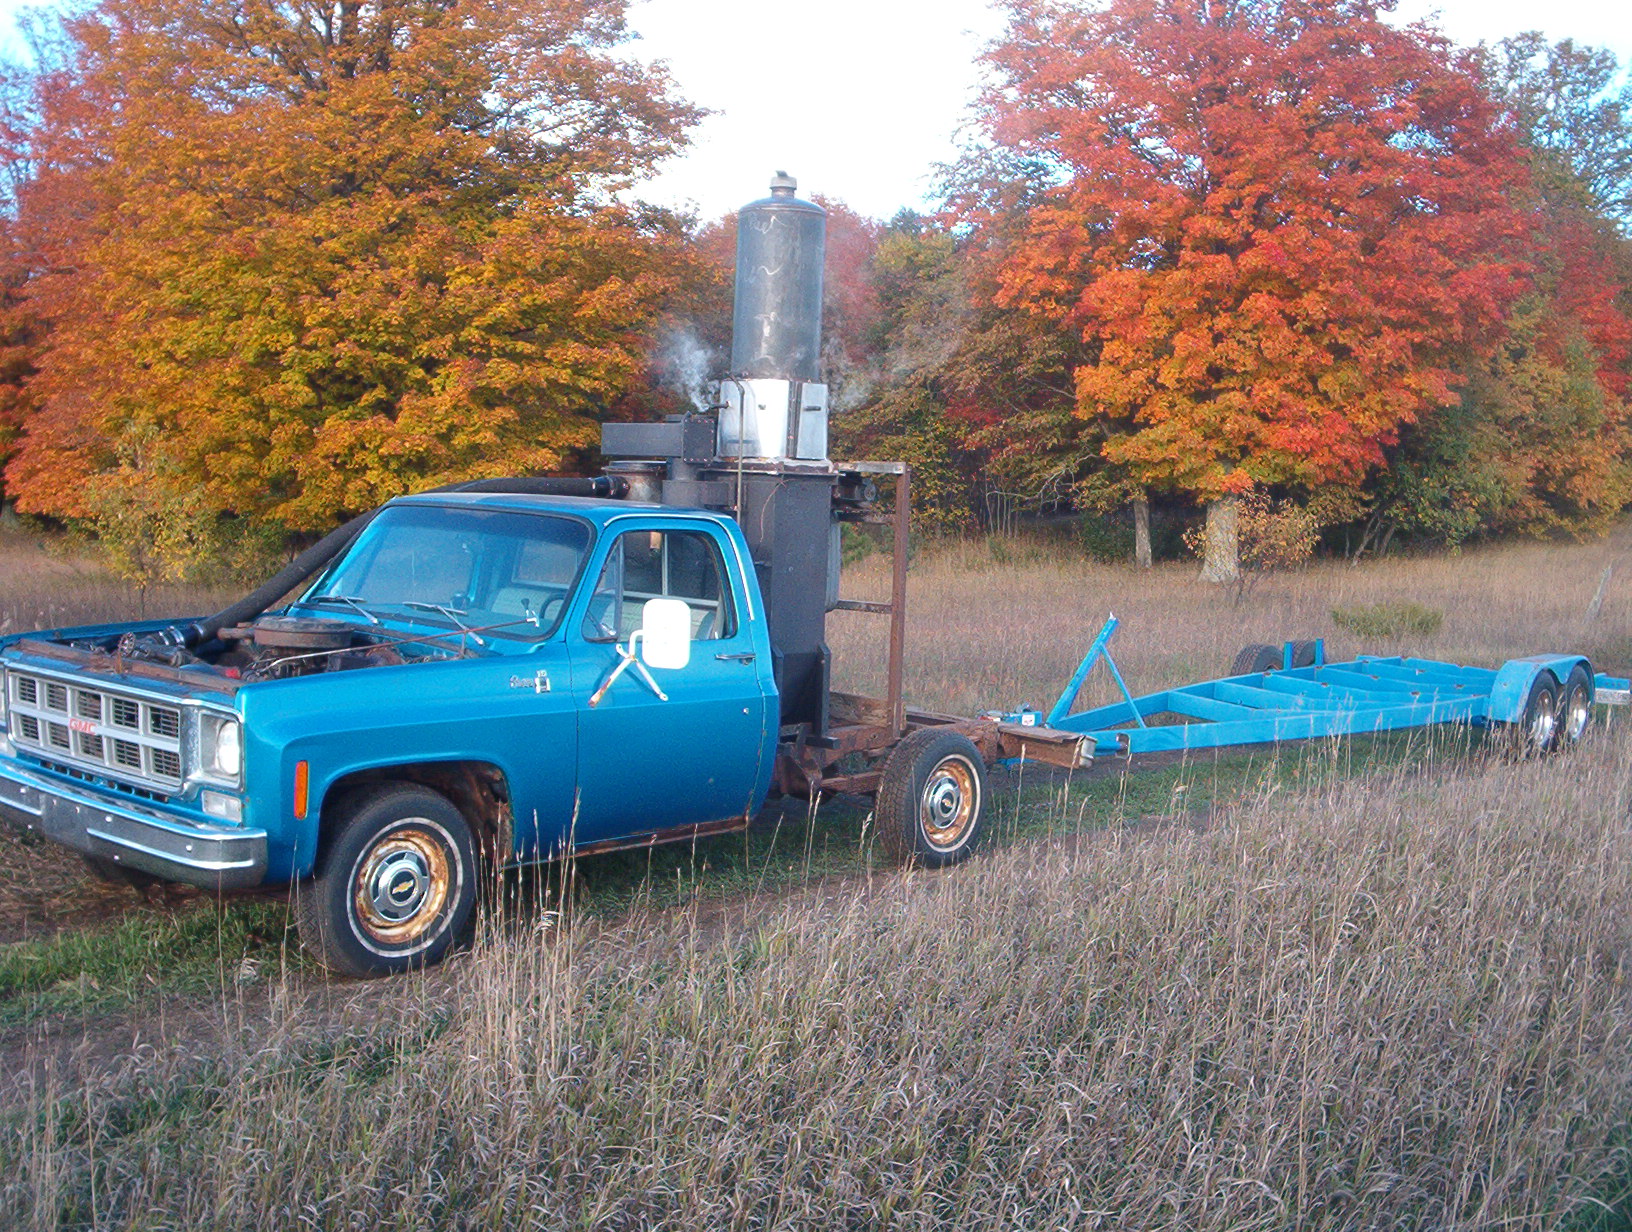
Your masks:
<instances>
[{"instance_id":1,"label":"side window in the blue truck's door, behind the white mirror","mask_svg":"<svg viewBox=\"0 0 1632 1232\"><path fill-rule=\"evenodd\" d=\"M584 614L586 641L627 638L648 599L684 599L698 641L736 633L731 587L712 535L700 530L627 530L607 553Z\"/></svg>"}]
</instances>

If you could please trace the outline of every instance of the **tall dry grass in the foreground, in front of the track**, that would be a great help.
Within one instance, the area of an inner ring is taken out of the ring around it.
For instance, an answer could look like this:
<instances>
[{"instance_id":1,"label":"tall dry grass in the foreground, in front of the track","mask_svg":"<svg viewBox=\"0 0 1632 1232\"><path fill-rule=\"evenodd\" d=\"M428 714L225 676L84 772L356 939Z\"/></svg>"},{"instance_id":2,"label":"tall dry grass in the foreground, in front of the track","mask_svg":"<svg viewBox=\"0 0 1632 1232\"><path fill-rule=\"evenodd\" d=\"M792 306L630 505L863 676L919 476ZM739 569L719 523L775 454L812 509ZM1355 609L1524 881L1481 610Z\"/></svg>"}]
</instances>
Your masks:
<instances>
[{"instance_id":1,"label":"tall dry grass in the foreground, in front of the track","mask_svg":"<svg viewBox=\"0 0 1632 1232\"><path fill-rule=\"evenodd\" d=\"M1616 733L738 927L548 917L372 1038L38 1088L0 1214L1557 1229L1624 1165L1629 777Z\"/></svg>"}]
</instances>

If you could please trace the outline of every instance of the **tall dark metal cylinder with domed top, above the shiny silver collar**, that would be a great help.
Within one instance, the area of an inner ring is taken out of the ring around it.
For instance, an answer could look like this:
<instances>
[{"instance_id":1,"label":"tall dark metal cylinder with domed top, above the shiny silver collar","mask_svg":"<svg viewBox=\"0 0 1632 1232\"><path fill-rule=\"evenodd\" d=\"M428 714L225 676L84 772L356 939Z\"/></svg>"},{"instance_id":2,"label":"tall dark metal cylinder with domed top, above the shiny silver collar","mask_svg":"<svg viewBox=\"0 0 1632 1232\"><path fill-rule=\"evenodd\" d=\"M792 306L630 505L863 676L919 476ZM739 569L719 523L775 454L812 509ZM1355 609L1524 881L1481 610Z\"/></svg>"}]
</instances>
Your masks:
<instances>
[{"instance_id":1,"label":"tall dark metal cylinder with domed top, above the shiny silver collar","mask_svg":"<svg viewBox=\"0 0 1632 1232\"><path fill-rule=\"evenodd\" d=\"M736 214L731 375L816 380L827 211L793 196L777 171L770 196Z\"/></svg>"}]
</instances>

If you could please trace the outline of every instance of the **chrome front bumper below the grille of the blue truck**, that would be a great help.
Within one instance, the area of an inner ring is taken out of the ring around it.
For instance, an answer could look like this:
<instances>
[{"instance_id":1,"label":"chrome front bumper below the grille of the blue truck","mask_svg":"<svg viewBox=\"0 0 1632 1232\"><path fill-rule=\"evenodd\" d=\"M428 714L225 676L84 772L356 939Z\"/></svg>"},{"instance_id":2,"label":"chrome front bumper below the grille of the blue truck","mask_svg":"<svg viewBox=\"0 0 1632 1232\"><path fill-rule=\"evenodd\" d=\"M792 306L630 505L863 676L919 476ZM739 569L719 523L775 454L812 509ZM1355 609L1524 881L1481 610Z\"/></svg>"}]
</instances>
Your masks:
<instances>
[{"instance_id":1,"label":"chrome front bumper below the grille of the blue truck","mask_svg":"<svg viewBox=\"0 0 1632 1232\"><path fill-rule=\"evenodd\" d=\"M266 876L266 831L209 826L69 787L0 760L0 818L85 855L100 855L165 881L245 889Z\"/></svg>"}]
</instances>

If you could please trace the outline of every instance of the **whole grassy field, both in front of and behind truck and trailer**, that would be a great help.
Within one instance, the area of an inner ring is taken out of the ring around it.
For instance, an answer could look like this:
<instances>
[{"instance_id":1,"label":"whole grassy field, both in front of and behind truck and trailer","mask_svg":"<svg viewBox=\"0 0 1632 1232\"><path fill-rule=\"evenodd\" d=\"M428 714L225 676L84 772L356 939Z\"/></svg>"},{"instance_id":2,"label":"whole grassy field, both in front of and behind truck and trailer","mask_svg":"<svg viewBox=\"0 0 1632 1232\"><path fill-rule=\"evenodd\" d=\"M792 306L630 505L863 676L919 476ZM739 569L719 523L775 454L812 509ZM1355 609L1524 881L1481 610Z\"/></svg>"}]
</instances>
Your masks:
<instances>
[{"instance_id":1,"label":"whole grassy field, both in front of and behind truck and trailer","mask_svg":"<svg viewBox=\"0 0 1632 1232\"><path fill-rule=\"evenodd\" d=\"M1048 705L1106 610L1136 690L1245 641L1399 649L1333 627L1373 602L1444 612L1412 651L1624 672L1629 548L1322 565L1239 605L925 550L909 697ZM0 568L11 627L129 610L20 540ZM834 623L876 687L883 622ZM788 804L512 880L475 951L387 984L312 971L282 904L118 896L8 839L0 1225L1625 1227L1627 729L1000 775L950 875L889 868L862 803Z\"/></svg>"}]
</instances>

